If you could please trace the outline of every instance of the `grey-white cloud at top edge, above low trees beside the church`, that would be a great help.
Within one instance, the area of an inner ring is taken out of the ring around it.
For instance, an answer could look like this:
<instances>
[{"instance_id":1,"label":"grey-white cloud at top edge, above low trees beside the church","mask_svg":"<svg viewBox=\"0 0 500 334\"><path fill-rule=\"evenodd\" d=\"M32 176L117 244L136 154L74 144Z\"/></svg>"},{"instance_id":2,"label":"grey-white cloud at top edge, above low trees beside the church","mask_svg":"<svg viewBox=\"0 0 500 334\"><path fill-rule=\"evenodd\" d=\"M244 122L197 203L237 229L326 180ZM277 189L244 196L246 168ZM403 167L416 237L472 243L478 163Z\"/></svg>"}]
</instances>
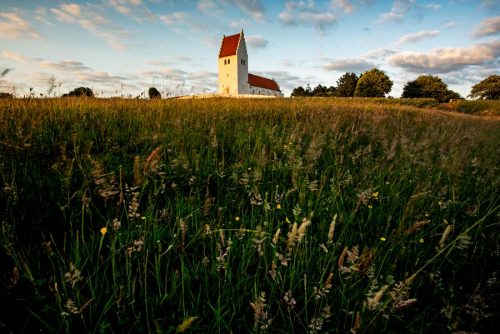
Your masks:
<instances>
[{"instance_id":1,"label":"grey-white cloud at top edge, above low trees beside the church","mask_svg":"<svg viewBox=\"0 0 500 334\"><path fill-rule=\"evenodd\" d=\"M318 31L325 31L335 25L338 18L330 12L319 12L313 0L287 1L285 9L279 14L280 21L289 26L313 25Z\"/></svg>"}]
</instances>

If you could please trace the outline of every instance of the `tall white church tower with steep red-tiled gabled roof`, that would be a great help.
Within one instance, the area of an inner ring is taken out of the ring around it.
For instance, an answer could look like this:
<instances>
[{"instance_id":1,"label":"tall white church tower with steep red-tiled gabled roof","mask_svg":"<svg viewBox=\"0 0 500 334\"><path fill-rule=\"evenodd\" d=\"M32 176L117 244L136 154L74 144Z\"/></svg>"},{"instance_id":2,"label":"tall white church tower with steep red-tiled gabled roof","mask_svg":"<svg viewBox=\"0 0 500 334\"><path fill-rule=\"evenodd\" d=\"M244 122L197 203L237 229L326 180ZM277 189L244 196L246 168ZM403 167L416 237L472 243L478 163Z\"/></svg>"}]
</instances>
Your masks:
<instances>
[{"instance_id":1,"label":"tall white church tower with steep red-tiled gabled roof","mask_svg":"<svg viewBox=\"0 0 500 334\"><path fill-rule=\"evenodd\" d=\"M219 93L249 94L248 53L243 30L224 36L219 51Z\"/></svg>"}]
</instances>

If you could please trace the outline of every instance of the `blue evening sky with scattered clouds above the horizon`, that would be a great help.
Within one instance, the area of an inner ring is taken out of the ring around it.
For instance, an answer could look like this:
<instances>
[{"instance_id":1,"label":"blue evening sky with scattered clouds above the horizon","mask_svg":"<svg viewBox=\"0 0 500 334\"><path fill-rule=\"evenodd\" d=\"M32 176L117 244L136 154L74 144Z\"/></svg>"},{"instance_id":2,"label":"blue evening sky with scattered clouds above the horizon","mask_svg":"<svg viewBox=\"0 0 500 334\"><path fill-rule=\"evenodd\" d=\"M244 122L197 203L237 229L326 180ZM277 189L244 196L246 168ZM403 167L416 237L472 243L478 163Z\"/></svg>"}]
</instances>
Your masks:
<instances>
[{"instance_id":1,"label":"blue evening sky with scattered clouds above the horizon","mask_svg":"<svg viewBox=\"0 0 500 334\"><path fill-rule=\"evenodd\" d=\"M393 97L421 74L464 97L500 74L497 0L1 0L0 91L216 92L222 37L241 30L249 71L285 96L374 67Z\"/></svg>"}]
</instances>

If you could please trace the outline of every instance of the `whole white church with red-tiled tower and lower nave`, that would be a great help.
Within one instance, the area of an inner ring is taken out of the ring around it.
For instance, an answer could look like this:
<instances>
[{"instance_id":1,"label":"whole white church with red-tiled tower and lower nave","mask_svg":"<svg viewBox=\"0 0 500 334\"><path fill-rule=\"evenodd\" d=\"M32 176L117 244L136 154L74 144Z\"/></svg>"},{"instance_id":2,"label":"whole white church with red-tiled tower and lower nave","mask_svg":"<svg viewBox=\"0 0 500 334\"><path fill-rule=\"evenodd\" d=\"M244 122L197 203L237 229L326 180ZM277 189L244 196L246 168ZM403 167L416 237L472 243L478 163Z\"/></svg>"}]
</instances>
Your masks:
<instances>
[{"instance_id":1,"label":"whole white church with red-tiled tower and lower nave","mask_svg":"<svg viewBox=\"0 0 500 334\"><path fill-rule=\"evenodd\" d=\"M243 30L236 35L224 35L222 39L219 51L219 93L283 97L276 81L248 73L248 53Z\"/></svg>"}]
</instances>

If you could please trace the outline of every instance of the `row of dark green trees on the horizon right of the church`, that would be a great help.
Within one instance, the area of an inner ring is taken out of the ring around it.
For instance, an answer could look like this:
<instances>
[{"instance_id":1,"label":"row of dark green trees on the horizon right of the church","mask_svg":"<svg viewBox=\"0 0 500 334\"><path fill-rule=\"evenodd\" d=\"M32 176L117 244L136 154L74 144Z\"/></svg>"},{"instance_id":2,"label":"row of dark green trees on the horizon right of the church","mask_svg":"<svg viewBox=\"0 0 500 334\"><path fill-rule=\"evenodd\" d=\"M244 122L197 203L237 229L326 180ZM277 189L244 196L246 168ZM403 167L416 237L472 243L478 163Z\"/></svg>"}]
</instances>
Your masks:
<instances>
[{"instance_id":1,"label":"row of dark green trees on the horizon right of the church","mask_svg":"<svg viewBox=\"0 0 500 334\"><path fill-rule=\"evenodd\" d=\"M311 88L299 86L293 89L291 96L333 96L333 97L386 97L392 89L393 82L389 76L377 68L362 73L346 72L337 80L337 86L317 85ZM462 99L457 92L438 76L420 75L409 81L403 88L402 98L433 98L441 103L452 99ZM500 99L500 76L491 75L472 87L471 98Z\"/></svg>"}]
</instances>

